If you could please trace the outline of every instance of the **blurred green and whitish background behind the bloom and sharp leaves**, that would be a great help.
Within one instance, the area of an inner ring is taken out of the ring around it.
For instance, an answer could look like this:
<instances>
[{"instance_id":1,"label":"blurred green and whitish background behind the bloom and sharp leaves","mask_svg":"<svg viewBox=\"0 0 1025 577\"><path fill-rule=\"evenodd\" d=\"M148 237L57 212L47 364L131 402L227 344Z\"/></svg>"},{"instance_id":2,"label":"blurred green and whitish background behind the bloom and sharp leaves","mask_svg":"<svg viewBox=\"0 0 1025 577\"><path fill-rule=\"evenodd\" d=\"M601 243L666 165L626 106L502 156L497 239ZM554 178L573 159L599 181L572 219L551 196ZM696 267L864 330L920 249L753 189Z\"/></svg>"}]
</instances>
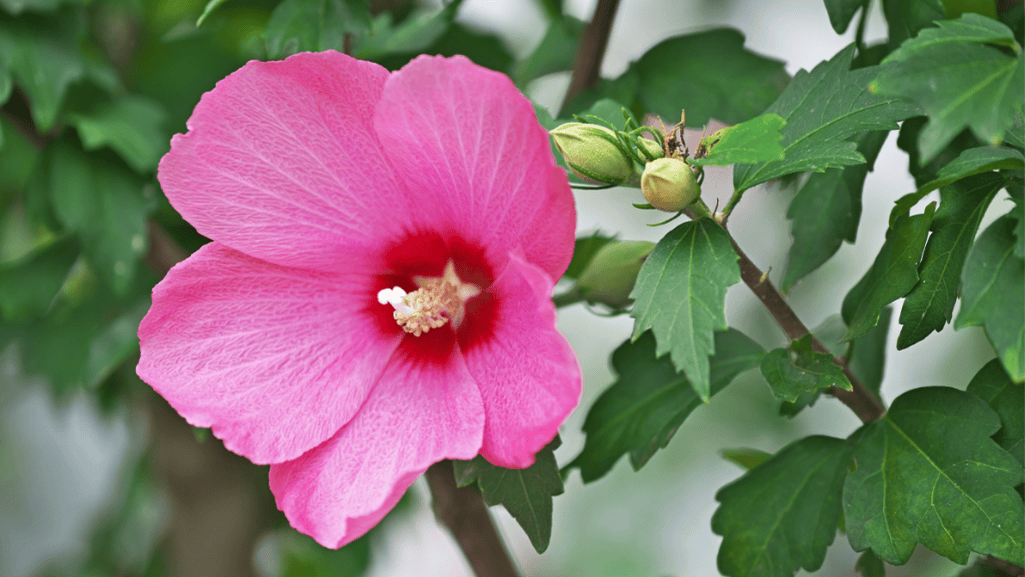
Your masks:
<instances>
[{"instance_id":1,"label":"blurred green and whitish background behind the bloom and sharp leaves","mask_svg":"<svg viewBox=\"0 0 1025 577\"><path fill-rule=\"evenodd\" d=\"M463 53L508 74L559 117L594 2L393 0L370 2L369 14L360 5L227 0L198 27L204 0L0 0L0 575L468 574L420 483L367 538L338 551L317 546L277 511L266 467L189 427L134 374L150 290L205 242L161 194L156 163L217 80L249 59L304 49L347 47L389 69L421 52ZM854 33L835 35L821 0L623 0L603 76L620 77L666 37L714 26L741 30L749 50L785 61L791 75L830 57ZM875 8L866 37L886 35ZM881 245L890 199L914 189L895 137L865 186L859 250L845 245L790 294L810 326L838 311ZM729 170L709 169L706 203L725 203L730 181ZM783 270L791 195L779 187L748 195L731 220L763 270ZM994 214L1007 210L1001 195ZM666 232L630 208L643 202L636 190L578 192L577 200L581 234L656 241ZM763 344L781 344L743 286L728 295L728 318ZM585 409L612 380L608 357L630 322L575 305L561 312L560 327L585 373L581 409L557 452L565 463L582 446ZM883 393L892 400L927 384L963 388L991 357L979 329L947 329L903 352L891 346ZM830 401L792 420L778 418L777 408L748 373L695 411L640 472L620 462L588 486L571 475L543 555L495 509L524 573L716 574L712 495L741 472L720 451L774 452L804 435L846 436L859 424ZM855 557L839 535L820 574L853 575ZM925 551L889 574L955 572Z\"/></svg>"}]
</instances>

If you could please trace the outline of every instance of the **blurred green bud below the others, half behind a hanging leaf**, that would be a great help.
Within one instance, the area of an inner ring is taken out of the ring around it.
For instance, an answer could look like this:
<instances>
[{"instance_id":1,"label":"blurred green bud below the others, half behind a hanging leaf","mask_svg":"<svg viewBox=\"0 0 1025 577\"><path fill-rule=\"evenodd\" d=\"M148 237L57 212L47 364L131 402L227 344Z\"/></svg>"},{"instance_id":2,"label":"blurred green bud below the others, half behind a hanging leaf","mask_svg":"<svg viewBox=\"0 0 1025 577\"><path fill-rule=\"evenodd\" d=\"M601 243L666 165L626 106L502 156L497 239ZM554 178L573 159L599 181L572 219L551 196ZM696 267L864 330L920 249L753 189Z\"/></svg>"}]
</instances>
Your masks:
<instances>
[{"instance_id":1,"label":"blurred green bud below the others, half behind a hanging leaf","mask_svg":"<svg viewBox=\"0 0 1025 577\"><path fill-rule=\"evenodd\" d=\"M648 241L611 242L603 246L580 274L575 290L590 303L626 306L641 265L653 248L655 243Z\"/></svg>"}]
</instances>

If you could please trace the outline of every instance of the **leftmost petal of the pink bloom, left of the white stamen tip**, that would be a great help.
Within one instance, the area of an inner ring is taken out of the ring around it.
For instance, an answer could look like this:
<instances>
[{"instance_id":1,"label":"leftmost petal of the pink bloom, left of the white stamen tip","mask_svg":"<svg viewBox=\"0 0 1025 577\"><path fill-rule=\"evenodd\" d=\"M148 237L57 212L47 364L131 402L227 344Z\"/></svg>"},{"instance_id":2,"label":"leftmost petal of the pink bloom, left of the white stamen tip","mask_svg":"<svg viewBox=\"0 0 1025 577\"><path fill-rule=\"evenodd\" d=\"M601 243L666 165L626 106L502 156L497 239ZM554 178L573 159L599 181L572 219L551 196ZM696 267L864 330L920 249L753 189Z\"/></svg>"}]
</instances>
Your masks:
<instances>
[{"instance_id":1,"label":"leftmost petal of the pink bloom, left of the white stamen tip","mask_svg":"<svg viewBox=\"0 0 1025 577\"><path fill-rule=\"evenodd\" d=\"M210 243L154 289L136 370L230 450L293 459L353 418L400 344L376 329L376 282Z\"/></svg>"}]
</instances>

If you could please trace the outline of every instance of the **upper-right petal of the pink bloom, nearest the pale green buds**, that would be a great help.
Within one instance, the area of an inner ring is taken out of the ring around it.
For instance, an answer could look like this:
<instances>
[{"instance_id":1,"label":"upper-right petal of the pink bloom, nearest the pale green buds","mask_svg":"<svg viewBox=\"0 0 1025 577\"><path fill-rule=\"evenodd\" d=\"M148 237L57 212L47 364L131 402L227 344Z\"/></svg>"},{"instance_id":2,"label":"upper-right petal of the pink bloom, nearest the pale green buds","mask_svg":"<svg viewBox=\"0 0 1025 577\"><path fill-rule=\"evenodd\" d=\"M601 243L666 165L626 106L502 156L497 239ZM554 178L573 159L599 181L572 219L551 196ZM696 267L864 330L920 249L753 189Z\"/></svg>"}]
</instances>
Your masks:
<instances>
[{"instance_id":1,"label":"upper-right petal of the pink bloom, nearest the pale green buds","mask_svg":"<svg viewBox=\"0 0 1025 577\"><path fill-rule=\"evenodd\" d=\"M508 78L462 56L419 56L388 78L374 126L418 197L416 212L396 218L458 234L499 270L522 247L528 261L562 277L573 253L573 194L533 106Z\"/></svg>"}]
</instances>

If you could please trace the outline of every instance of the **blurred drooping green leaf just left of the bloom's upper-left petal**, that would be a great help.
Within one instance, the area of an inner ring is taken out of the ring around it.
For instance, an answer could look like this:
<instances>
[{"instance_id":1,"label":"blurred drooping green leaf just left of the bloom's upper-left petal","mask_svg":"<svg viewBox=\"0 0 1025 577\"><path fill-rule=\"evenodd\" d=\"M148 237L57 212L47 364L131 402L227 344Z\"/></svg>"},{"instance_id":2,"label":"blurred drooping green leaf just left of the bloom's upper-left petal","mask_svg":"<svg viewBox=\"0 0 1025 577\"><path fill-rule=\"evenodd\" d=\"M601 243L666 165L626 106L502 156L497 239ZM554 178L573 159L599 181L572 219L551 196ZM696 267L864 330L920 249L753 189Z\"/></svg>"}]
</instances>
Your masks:
<instances>
[{"instance_id":1,"label":"blurred drooping green leaf just left of the bloom's upper-left petal","mask_svg":"<svg viewBox=\"0 0 1025 577\"><path fill-rule=\"evenodd\" d=\"M39 186L57 220L79 234L99 276L125 294L146 253L146 221L156 208L152 187L65 142L47 148Z\"/></svg>"}]
</instances>

